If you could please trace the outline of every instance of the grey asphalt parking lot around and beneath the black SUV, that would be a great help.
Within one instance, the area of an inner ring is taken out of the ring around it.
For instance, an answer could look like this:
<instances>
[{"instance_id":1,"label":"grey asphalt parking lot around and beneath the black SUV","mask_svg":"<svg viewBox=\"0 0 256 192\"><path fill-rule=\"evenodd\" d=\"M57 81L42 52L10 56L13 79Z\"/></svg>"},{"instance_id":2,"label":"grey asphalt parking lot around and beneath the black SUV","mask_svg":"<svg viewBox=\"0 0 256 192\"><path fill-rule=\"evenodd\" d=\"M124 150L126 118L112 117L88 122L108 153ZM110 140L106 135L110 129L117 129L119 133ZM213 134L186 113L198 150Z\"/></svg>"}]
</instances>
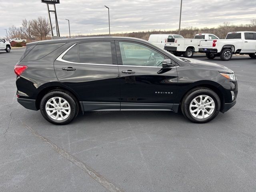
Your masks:
<instances>
[{"instance_id":1,"label":"grey asphalt parking lot around and beneath the black SUV","mask_svg":"<svg viewBox=\"0 0 256 192\"><path fill-rule=\"evenodd\" d=\"M239 92L209 123L106 111L55 126L16 101L13 68L23 52L0 52L1 192L256 191L256 59L212 60L235 71Z\"/></svg>"}]
</instances>

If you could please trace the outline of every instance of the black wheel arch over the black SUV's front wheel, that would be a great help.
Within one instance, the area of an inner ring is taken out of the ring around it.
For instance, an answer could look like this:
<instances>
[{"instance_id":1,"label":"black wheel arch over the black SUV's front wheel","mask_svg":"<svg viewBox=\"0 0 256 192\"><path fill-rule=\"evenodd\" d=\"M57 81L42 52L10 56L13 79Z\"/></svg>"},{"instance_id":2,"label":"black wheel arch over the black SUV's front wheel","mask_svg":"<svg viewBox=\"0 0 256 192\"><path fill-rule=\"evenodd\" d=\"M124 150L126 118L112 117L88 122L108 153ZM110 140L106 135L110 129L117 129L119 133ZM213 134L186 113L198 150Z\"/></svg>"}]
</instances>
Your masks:
<instances>
[{"instance_id":1,"label":"black wheel arch over the black SUV's front wheel","mask_svg":"<svg viewBox=\"0 0 256 192\"><path fill-rule=\"evenodd\" d=\"M195 89L195 88L199 88L199 87L204 87L204 88L208 88L210 90L213 90L220 98L220 111L222 111L222 109L224 108L224 104L225 104L225 99L224 99L224 94L221 88L221 85L216 83L216 82L211 82L211 81L207 81L207 82L196 82L194 84L192 84L188 90L186 90L186 92L184 92L184 94L180 97L180 101L179 104L181 104L182 100L184 99L184 97L186 96L186 94L188 92L190 92L191 90Z\"/></svg>"}]
</instances>

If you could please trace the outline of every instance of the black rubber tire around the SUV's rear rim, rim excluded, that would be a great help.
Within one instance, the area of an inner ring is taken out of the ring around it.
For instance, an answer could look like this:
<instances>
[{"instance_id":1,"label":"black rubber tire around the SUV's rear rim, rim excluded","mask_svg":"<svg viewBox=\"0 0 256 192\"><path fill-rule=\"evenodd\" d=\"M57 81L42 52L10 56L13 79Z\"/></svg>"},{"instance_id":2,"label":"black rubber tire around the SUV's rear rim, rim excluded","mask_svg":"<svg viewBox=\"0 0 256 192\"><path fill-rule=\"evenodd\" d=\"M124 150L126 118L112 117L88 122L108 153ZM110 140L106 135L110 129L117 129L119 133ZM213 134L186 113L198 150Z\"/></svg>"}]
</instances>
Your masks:
<instances>
[{"instance_id":1,"label":"black rubber tire around the SUV's rear rim, rim excluded","mask_svg":"<svg viewBox=\"0 0 256 192\"><path fill-rule=\"evenodd\" d=\"M68 104L70 105L70 114L69 116L64 119L64 120L54 120L53 118L51 118L47 112L46 112L46 103L50 98L53 97L61 97L63 99L65 99ZM57 125L65 125L70 123L72 120L74 120L74 118L77 116L78 111L79 111L79 107L78 107L78 102L76 101L75 97L65 91L51 91L48 92L41 100L40 102L40 111L42 116L50 123L52 124L57 124Z\"/></svg>"}]
</instances>

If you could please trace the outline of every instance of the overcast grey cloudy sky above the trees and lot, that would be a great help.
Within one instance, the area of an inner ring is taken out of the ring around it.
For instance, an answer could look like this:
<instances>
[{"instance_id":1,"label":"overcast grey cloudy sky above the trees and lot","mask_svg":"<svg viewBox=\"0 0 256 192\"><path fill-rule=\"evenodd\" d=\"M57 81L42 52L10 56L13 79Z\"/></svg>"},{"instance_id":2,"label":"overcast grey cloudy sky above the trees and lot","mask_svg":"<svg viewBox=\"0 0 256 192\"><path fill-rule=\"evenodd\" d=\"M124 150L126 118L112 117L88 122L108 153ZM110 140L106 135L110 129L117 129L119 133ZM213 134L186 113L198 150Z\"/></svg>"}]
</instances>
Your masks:
<instances>
[{"instance_id":1,"label":"overcast grey cloudy sky above the trees and lot","mask_svg":"<svg viewBox=\"0 0 256 192\"><path fill-rule=\"evenodd\" d=\"M107 34L110 7L111 32L176 29L180 0L60 0L56 4L60 35ZM54 16L54 14L51 14ZM0 37L4 29L21 26L23 18L48 18L41 0L1 0ZM211 27L223 22L247 24L256 19L256 0L183 0L181 27Z\"/></svg>"}]
</instances>

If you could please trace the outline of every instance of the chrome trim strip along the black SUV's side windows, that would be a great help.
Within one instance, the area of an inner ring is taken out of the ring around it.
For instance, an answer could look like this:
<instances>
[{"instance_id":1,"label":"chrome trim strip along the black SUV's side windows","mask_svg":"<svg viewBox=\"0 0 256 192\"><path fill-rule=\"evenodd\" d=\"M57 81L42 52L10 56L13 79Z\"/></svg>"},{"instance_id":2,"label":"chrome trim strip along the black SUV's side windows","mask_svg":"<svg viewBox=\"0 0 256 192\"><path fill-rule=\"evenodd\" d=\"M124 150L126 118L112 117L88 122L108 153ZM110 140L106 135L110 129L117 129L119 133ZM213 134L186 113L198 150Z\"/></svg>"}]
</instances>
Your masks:
<instances>
[{"instance_id":1,"label":"chrome trim strip along the black SUV's side windows","mask_svg":"<svg viewBox=\"0 0 256 192\"><path fill-rule=\"evenodd\" d=\"M162 68L162 67L158 67L158 66L136 66L136 65L113 65L113 64L95 64L95 63L77 63L77 62L71 62L71 61L67 61L62 59L62 57L64 57L64 55L70 50L72 49L72 47L74 47L75 45L77 45L78 43L75 43L74 45L70 46L66 51L64 51L60 56L58 56L58 58L56 59L57 61L61 61L61 62L65 62L65 63L72 63L72 64L86 64L86 65L106 65L106 66L124 66L124 67L150 67L150 68ZM170 67L170 68L178 68L179 66L175 66L175 67ZM169 69L170 69L169 68Z\"/></svg>"}]
</instances>

